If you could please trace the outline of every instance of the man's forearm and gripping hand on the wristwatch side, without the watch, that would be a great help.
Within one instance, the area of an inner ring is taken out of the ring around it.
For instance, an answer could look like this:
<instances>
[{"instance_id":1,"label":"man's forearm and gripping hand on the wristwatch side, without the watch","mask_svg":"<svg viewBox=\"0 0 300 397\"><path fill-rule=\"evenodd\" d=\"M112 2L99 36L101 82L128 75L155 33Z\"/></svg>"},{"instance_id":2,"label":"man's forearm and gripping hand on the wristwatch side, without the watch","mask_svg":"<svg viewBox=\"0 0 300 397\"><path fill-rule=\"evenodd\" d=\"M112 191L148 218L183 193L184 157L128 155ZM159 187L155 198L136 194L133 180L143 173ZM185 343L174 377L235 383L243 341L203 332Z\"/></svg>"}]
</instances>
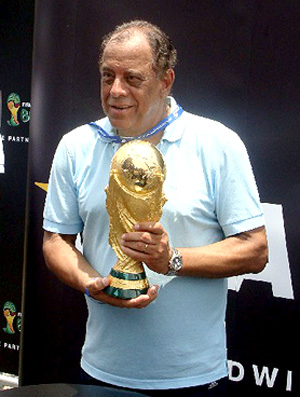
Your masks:
<instances>
[{"instance_id":1,"label":"man's forearm and gripping hand on the wristwatch side, without the watch","mask_svg":"<svg viewBox=\"0 0 300 397\"><path fill-rule=\"evenodd\" d=\"M166 274L172 255L167 232L160 223L151 222L137 225L136 230L122 237L124 253L145 262L153 271ZM268 261L264 227L203 247L176 248L183 257L180 276L219 278L258 273Z\"/></svg>"}]
</instances>

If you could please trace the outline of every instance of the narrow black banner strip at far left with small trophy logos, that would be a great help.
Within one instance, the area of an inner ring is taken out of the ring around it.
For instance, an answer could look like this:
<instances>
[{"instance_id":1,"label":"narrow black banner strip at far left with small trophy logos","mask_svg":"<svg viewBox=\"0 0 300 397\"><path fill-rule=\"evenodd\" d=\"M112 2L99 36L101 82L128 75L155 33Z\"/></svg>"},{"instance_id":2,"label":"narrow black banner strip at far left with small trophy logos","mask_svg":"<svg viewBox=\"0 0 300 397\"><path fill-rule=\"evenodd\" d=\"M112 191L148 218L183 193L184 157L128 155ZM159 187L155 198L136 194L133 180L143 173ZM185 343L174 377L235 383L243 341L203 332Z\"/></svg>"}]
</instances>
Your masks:
<instances>
[{"instance_id":1,"label":"narrow black banner strip at far left with small trophy logos","mask_svg":"<svg viewBox=\"0 0 300 397\"><path fill-rule=\"evenodd\" d=\"M34 0L0 4L0 372L11 374L18 374L22 316L33 14Z\"/></svg>"}]
</instances>

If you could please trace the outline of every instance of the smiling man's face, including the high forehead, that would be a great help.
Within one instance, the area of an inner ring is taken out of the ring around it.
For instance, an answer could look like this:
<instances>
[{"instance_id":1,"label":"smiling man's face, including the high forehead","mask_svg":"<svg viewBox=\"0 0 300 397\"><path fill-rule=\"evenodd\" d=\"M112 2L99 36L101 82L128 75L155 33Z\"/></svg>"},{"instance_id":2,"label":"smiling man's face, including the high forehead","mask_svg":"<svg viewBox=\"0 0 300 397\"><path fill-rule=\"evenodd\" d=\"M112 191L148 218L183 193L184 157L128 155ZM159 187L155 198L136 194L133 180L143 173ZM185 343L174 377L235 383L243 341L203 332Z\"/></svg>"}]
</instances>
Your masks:
<instances>
[{"instance_id":1,"label":"smiling man's face, including the high forehead","mask_svg":"<svg viewBox=\"0 0 300 397\"><path fill-rule=\"evenodd\" d=\"M166 83L153 71L143 34L108 43L100 72L102 107L120 135L140 135L162 120Z\"/></svg>"}]
</instances>

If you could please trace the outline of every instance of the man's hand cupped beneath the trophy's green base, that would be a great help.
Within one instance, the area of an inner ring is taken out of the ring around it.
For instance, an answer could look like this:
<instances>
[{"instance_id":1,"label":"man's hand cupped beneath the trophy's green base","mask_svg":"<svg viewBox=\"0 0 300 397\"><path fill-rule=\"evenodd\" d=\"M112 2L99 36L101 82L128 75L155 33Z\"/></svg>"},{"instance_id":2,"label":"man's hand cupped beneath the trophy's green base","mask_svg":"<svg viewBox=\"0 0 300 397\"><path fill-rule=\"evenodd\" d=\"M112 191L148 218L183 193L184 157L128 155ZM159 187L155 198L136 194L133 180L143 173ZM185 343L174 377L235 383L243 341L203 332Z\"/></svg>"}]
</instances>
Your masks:
<instances>
[{"instance_id":1,"label":"man's hand cupped beneath the trophy's green base","mask_svg":"<svg viewBox=\"0 0 300 397\"><path fill-rule=\"evenodd\" d=\"M108 285L109 279L107 277L96 277L91 279L91 281L87 284L87 288L90 296L93 299L112 306L127 309L142 309L157 298L158 286L156 285L150 287L147 291L147 294L142 294L134 299L119 299L107 295L105 292L103 292L103 289Z\"/></svg>"}]
</instances>

